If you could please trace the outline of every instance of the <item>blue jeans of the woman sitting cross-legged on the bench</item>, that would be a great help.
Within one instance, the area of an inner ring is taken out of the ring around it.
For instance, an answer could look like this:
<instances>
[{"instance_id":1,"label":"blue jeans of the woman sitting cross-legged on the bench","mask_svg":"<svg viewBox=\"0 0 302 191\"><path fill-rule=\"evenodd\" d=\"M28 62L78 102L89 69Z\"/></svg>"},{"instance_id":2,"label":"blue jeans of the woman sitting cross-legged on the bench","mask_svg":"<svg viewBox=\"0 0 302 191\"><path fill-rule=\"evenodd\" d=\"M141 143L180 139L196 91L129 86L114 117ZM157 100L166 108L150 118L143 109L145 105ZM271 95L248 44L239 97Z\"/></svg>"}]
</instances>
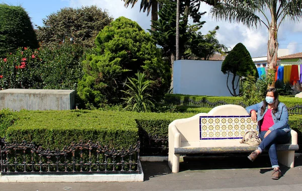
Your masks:
<instances>
[{"instance_id":1,"label":"blue jeans of the woman sitting cross-legged on the bench","mask_svg":"<svg viewBox=\"0 0 302 191\"><path fill-rule=\"evenodd\" d=\"M288 143L291 137L290 131L285 132L282 129L276 129L270 132L270 134L268 134L264 138L265 133L266 131L260 132L260 139L262 140L262 142L260 143L258 149L260 150L260 152L268 150L272 168L279 167L276 144Z\"/></svg>"}]
</instances>

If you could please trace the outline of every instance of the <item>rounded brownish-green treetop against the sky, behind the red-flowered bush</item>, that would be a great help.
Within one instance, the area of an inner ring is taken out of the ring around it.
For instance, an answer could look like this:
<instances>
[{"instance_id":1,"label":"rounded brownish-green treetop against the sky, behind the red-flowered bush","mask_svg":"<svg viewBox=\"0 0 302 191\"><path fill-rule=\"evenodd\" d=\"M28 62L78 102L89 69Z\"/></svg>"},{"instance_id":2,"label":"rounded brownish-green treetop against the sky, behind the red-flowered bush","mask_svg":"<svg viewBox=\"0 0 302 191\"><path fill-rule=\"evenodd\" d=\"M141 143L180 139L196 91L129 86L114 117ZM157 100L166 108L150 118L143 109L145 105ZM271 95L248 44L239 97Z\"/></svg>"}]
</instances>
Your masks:
<instances>
[{"instance_id":1,"label":"rounded brownish-green treetop against the sky, behind the red-flowered bush","mask_svg":"<svg viewBox=\"0 0 302 191\"><path fill-rule=\"evenodd\" d=\"M98 33L112 20L107 11L97 6L63 8L43 20L44 26L38 27L37 36L42 46L70 43L72 38L71 43L93 47Z\"/></svg>"}]
</instances>

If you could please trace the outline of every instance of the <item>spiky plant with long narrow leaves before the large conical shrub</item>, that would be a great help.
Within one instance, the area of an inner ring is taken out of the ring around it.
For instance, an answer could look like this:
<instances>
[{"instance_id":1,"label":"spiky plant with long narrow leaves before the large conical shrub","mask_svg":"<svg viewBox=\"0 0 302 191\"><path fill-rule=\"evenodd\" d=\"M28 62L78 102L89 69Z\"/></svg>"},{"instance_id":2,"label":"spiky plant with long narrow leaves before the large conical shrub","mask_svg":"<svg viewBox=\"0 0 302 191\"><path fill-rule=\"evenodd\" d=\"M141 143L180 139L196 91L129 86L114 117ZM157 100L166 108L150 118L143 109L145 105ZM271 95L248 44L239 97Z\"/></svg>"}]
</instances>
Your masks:
<instances>
[{"instance_id":1,"label":"spiky plant with long narrow leaves before the large conical shrub","mask_svg":"<svg viewBox=\"0 0 302 191\"><path fill-rule=\"evenodd\" d=\"M145 74L140 73L139 71L135 74L137 79L128 78L127 83L125 85L129 88L128 90L121 90L122 92L126 93L128 97L122 98L126 102L125 109L132 107L132 111L146 112L150 109L150 106L154 106L152 103L152 99L150 94L147 93L149 90L150 82L145 81Z\"/></svg>"}]
</instances>

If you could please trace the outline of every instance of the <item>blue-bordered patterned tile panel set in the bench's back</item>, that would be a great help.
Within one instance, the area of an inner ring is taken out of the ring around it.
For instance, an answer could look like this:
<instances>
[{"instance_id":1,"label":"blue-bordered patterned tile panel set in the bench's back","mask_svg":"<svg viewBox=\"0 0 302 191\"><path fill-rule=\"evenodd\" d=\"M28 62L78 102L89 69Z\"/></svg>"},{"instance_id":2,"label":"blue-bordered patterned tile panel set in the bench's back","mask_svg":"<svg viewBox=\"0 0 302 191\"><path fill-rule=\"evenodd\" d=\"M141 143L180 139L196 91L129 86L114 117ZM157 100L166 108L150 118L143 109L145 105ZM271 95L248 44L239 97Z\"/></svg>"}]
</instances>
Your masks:
<instances>
[{"instance_id":1,"label":"blue-bordered patterned tile panel set in the bench's back","mask_svg":"<svg viewBox=\"0 0 302 191\"><path fill-rule=\"evenodd\" d=\"M251 116L200 116L200 140L242 139L249 130L256 130Z\"/></svg>"}]
</instances>

